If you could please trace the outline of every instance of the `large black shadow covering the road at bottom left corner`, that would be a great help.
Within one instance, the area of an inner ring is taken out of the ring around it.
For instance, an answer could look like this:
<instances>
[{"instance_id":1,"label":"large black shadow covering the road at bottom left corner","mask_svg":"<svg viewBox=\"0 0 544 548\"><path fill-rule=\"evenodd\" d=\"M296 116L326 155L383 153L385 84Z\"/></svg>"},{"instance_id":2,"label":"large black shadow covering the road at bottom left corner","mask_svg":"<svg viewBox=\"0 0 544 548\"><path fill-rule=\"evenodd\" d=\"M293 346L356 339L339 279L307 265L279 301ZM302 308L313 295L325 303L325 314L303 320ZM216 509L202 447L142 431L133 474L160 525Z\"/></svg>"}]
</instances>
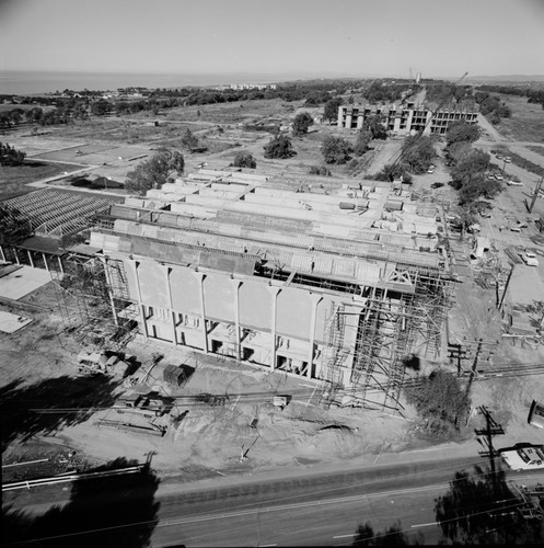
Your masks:
<instances>
[{"instance_id":1,"label":"large black shadow covering the road at bottom left corner","mask_svg":"<svg viewBox=\"0 0 544 548\"><path fill-rule=\"evenodd\" d=\"M117 458L91 471L137 466ZM3 513L3 545L42 548L138 548L150 546L159 521L159 479L149 468L134 473L76 481L68 504L39 516L24 510Z\"/></svg>"}]
</instances>

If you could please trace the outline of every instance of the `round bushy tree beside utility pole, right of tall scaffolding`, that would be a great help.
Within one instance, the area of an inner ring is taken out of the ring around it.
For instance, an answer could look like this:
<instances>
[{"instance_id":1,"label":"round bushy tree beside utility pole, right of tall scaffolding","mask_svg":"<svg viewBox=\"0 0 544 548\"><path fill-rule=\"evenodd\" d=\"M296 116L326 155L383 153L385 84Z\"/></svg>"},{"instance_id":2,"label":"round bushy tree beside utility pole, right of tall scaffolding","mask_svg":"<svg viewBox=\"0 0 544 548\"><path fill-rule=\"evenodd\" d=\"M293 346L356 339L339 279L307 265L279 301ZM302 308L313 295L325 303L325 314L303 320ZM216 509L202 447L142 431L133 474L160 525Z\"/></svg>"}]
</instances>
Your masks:
<instances>
[{"instance_id":1,"label":"round bushy tree beside utility pole, right of tall scaffolding","mask_svg":"<svg viewBox=\"0 0 544 548\"><path fill-rule=\"evenodd\" d=\"M458 422L466 415L471 403L458 377L443 369L436 369L420 384L405 388L405 395L424 419L424 432L440 437L458 430Z\"/></svg>"}]
</instances>

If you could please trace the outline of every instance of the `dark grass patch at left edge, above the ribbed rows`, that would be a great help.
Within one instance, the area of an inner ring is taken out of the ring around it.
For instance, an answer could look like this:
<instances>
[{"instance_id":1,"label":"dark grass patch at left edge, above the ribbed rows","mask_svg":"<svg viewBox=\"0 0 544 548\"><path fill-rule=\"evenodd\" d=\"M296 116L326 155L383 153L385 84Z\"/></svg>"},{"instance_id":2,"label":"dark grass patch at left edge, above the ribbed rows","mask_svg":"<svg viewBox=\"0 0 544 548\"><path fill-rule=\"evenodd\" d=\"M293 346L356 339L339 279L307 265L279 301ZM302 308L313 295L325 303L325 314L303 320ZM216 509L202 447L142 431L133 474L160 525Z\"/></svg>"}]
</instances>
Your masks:
<instances>
[{"instance_id":1,"label":"dark grass patch at left edge, above the ribbed rows","mask_svg":"<svg viewBox=\"0 0 544 548\"><path fill-rule=\"evenodd\" d=\"M23 165L0 167L0 201L12 198L21 194L32 192L32 186L26 183L33 183L40 179L47 179L63 173L65 171L74 171L78 169L68 163L46 163L26 161Z\"/></svg>"}]
</instances>

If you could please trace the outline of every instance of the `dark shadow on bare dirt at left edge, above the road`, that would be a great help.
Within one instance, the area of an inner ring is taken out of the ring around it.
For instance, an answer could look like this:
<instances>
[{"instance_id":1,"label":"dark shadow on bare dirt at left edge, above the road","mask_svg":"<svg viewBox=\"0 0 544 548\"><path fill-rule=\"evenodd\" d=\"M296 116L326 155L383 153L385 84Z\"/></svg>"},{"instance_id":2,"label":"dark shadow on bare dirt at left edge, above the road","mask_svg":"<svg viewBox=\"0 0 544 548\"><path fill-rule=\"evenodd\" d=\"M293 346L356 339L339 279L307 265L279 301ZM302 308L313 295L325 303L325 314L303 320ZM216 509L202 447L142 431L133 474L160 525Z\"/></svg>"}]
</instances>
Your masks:
<instances>
[{"instance_id":1,"label":"dark shadow on bare dirt at left edge, above the road","mask_svg":"<svg viewBox=\"0 0 544 548\"><path fill-rule=\"evenodd\" d=\"M115 403L118 380L106 376L62 376L23 386L15 379L0 388L2 452L16 438L26 441L86 421Z\"/></svg>"}]
</instances>

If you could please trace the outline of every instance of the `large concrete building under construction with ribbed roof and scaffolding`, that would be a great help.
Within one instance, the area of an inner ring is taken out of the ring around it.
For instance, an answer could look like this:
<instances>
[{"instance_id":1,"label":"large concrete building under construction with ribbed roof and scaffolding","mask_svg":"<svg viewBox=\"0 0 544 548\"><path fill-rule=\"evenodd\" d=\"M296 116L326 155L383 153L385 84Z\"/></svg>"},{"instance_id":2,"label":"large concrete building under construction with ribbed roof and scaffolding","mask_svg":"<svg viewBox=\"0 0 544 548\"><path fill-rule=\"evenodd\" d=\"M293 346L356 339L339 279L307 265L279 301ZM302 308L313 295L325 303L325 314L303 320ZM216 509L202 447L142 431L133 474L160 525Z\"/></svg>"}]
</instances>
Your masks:
<instances>
[{"instance_id":1,"label":"large concrete building under construction with ribbed roof and scaffolding","mask_svg":"<svg viewBox=\"0 0 544 548\"><path fill-rule=\"evenodd\" d=\"M88 251L114 313L148 340L322 379L328 402L398 410L406 359L439 351L449 306L437 206L389 183L282 183L200 170L112 205Z\"/></svg>"}]
</instances>

